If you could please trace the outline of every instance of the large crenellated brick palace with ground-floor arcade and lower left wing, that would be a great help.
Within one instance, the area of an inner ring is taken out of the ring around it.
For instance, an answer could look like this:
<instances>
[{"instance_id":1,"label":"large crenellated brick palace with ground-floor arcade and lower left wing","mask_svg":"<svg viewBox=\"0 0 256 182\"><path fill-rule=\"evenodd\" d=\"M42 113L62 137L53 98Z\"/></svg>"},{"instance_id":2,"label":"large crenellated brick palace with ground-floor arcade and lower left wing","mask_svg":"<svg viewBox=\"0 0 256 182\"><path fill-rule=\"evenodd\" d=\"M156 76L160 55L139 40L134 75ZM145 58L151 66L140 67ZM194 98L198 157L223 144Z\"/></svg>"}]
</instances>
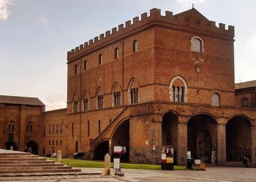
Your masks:
<instances>
[{"instance_id":1,"label":"large crenellated brick palace with ground-floor arcade and lower left wing","mask_svg":"<svg viewBox=\"0 0 256 182\"><path fill-rule=\"evenodd\" d=\"M173 146L176 165L190 151L256 166L256 111L236 106L234 35L195 8L151 9L67 52L67 109L42 114L39 154L103 159L125 146L123 160L159 163Z\"/></svg>"}]
</instances>

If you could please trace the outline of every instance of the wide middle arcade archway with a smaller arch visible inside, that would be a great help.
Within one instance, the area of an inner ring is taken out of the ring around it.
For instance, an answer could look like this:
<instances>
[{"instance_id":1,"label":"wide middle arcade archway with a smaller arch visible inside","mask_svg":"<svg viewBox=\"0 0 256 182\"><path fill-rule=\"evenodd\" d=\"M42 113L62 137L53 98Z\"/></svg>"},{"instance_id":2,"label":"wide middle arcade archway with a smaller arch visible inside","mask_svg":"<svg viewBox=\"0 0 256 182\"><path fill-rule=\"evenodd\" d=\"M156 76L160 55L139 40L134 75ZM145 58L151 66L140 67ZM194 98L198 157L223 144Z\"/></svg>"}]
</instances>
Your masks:
<instances>
[{"instance_id":1,"label":"wide middle arcade archway with a smaller arch visible inside","mask_svg":"<svg viewBox=\"0 0 256 182\"><path fill-rule=\"evenodd\" d=\"M187 151L192 159L211 161L211 154L217 151L217 122L208 114L197 114L187 124ZM214 157L215 158L215 157Z\"/></svg>"}]
</instances>

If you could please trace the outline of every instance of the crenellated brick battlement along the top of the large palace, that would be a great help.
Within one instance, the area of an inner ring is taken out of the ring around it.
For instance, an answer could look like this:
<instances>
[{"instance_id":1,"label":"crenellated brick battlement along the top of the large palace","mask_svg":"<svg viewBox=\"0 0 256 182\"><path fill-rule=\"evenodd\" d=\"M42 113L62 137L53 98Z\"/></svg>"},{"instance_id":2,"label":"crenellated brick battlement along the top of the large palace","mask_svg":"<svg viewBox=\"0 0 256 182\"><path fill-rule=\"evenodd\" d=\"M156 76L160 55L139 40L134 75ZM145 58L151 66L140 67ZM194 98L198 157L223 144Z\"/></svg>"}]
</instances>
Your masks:
<instances>
[{"instance_id":1,"label":"crenellated brick battlement along the top of the large palace","mask_svg":"<svg viewBox=\"0 0 256 182\"><path fill-rule=\"evenodd\" d=\"M129 32L146 25L152 25L152 23L156 25L165 23L165 25L173 28L178 26L182 26L184 29L189 28L190 30L193 28L195 30L217 33L219 36L227 36L231 39L233 39L235 35L234 26L229 25L228 29L225 29L225 24L219 23L218 28L214 21L207 20L206 17L203 17L203 15L194 8L177 15L173 15L173 12L166 11L165 16L161 15L161 9L154 8L150 10L149 16L144 12L141 14L140 20L139 17L134 17L132 21L128 20L125 22L125 26L124 24L120 24L118 28L114 27L111 31L106 31L94 37L94 39L90 39L89 42L86 41L84 44L80 44L79 47L75 47L75 49L67 52L67 60L72 60L72 58L76 58L84 52L90 52L99 45L108 44L111 40L127 36Z\"/></svg>"}]
</instances>

